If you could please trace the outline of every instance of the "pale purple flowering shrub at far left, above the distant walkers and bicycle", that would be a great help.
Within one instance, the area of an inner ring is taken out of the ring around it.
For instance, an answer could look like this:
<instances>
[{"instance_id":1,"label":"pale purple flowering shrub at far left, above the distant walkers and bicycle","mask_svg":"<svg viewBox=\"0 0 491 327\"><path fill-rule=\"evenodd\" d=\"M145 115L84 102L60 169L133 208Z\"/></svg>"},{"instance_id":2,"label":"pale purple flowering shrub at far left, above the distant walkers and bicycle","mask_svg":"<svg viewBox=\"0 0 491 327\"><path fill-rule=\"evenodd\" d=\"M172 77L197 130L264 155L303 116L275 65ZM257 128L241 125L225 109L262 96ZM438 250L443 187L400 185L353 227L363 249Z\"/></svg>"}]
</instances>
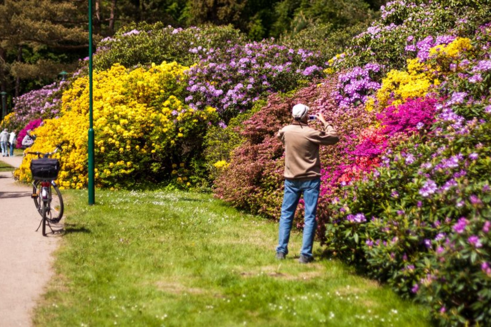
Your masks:
<instances>
[{"instance_id":1,"label":"pale purple flowering shrub at far left, above the distant walkers and bicycle","mask_svg":"<svg viewBox=\"0 0 491 327\"><path fill-rule=\"evenodd\" d=\"M11 129L23 129L27 123L37 118L55 118L60 109L60 91L66 84L64 81L55 82L14 98L14 115L9 121Z\"/></svg>"}]
</instances>

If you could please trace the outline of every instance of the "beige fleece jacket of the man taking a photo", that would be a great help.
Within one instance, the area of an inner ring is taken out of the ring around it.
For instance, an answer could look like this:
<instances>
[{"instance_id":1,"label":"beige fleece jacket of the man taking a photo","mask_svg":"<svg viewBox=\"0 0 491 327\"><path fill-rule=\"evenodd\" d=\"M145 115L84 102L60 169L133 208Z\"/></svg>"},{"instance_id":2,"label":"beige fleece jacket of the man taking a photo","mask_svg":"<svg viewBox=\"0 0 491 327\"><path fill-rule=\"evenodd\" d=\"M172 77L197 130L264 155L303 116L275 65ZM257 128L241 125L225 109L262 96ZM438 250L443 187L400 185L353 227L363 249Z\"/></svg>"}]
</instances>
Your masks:
<instances>
[{"instance_id":1,"label":"beige fleece jacket of the man taking a photo","mask_svg":"<svg viewBox=\"0 0 491 327\"><path fill-rule=\"evenodd\" d=\"M287 179L314 179L321 176L319 146L335 144L338 134L329 123L323 131L301 122L294 122L276 135L285 145L285 173Z\"/></svg>"}]
</instances>

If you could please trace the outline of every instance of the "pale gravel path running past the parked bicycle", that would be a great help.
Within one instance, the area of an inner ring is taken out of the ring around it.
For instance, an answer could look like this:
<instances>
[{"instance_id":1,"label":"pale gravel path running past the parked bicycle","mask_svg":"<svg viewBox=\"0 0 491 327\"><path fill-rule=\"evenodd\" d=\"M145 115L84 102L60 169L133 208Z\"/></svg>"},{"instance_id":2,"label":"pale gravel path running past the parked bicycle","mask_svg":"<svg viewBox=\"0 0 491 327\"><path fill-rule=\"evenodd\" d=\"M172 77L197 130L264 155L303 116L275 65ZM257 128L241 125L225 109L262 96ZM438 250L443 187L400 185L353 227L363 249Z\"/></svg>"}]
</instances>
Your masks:
<instances>
[{"instance_id":1,"label":"pale gravel path running past the parked bicycle","mask_svg":"<svg viewBox=\"0 0 491 327\"><path fill-rule=\"evenodd\" d=\"M22 157L0 157L19 167ZM36 232L41 216L32 188L0 172L0 326L32 326L32 310L52 275L52 253L59 237Z\"/></svg>"}]
</instances>

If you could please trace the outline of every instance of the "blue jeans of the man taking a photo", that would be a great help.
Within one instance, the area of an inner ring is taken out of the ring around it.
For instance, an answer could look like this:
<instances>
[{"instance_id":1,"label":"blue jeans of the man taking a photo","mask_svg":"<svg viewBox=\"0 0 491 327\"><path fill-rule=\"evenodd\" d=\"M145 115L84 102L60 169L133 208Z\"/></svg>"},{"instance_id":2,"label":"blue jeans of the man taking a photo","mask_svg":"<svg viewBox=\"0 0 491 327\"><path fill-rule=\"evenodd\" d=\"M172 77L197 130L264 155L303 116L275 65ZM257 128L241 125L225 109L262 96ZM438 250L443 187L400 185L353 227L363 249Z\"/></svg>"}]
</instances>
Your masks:
<instances>
[{"instance_id":1,"label":"blue jeans of the man taking a photo","mask_svg":"<svg viewBox=\"0 0 491 327\"><path fill-rule=\"evenodd\" d=\"M279 241L276 252L288 254L288 241L290 240L293 217L295 216L295 210L299 204L300 195L303 193L303 201L305 202L305 226L303 227L302 248L300 254L308 258L312 257L312 247L314 244L315 231L317 229L315 215L317 212L317 200L319 199L320 188L320 178L310 180L285 179L285 192L283 194L281 217L279 219Z\"/></svg>"}]
</instances>

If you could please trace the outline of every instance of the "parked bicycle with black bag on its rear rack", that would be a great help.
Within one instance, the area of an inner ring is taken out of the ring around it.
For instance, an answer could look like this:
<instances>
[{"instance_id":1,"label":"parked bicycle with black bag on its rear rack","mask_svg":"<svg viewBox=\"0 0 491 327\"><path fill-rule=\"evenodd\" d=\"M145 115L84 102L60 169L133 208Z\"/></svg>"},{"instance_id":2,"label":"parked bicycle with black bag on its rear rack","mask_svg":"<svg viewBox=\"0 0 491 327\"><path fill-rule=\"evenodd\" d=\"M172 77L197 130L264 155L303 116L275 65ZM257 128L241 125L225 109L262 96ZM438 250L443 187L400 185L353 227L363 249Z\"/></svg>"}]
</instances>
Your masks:
<instances>
[{"instance_id":1,"label":"parked bicycle with black bag on its rear rack","mask_svg":"<svg viewBox=\"0 0 491 327\"><path fill-rule=\"evenodd\" d=\"M59 223L63 216L63 198L61 197L58 185L55 179L58 177L60 164L58 159L50 158L57 151L62 151L61 146L65 141L56 145L53 152L27 152L27 154L35 154L38 159L32 160L30 170L32 174L32 194L34 205L38 213L41 215L41 222L36 231L42 225L42 234L46 236L46 225L51 231L55 231L51 224Z\"/></svg>"}]
</instances>

